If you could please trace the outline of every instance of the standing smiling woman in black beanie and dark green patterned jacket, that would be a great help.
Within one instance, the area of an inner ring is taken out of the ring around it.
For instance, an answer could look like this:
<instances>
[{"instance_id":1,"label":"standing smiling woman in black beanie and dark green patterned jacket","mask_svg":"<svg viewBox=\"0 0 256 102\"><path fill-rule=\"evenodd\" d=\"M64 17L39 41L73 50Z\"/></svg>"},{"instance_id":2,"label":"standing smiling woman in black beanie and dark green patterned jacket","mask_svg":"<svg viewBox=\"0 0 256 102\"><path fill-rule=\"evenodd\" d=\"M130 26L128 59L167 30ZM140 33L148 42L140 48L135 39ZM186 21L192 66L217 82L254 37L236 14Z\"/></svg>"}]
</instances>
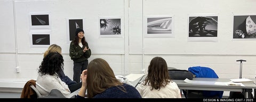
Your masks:
<instances>
[{"instance_id":1,"label":"standing smiling woman in black beanie and dark green patterned jacket","mask_svg":"<svg viewBox=\"0 0 256 102\"><path fill-rule=\"evenodd\" d=\"M69 46L69 56L74 61L73 80L79 83L81 73L87 69L87 59L91 56L91 49L85 41L83 29L77 28L75 34L76 37Z\"/></svg>"}]
</instances>

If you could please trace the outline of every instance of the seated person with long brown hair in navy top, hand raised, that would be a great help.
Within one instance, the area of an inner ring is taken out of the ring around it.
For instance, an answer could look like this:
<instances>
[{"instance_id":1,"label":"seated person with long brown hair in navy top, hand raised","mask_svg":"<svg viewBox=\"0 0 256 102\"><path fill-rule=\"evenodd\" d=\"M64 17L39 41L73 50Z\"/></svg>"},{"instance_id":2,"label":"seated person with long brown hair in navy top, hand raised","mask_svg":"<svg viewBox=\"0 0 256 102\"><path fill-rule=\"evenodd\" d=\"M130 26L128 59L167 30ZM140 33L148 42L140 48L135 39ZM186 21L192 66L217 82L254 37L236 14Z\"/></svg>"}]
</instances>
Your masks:
<instances>
[{"instance_id":1,"label":"seated person with long brown hair in navy top, hand raised","mask_svg":"<svg viewBox=\"0 0 256 102\"><path fill-rule=\"evenodd\" d=\"M116 79L109 64L102 58L92 60L81 74L82 87L77 98L141 98L139 92L129 84Z\"/></svg>"}]
</instances>

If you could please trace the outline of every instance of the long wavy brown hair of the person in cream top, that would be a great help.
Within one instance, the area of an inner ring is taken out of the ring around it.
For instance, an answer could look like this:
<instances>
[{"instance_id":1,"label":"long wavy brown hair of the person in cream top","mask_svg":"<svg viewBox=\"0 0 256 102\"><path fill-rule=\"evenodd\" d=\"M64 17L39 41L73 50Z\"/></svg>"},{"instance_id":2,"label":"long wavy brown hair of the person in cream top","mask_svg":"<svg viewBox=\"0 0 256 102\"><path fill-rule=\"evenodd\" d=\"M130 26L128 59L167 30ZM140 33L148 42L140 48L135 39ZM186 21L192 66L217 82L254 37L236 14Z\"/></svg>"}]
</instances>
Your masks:
<instances>
[{"instance_id":1,"label":"long wavy brown hair of the person in cream top","mask_svg":"<svg viewBox=\"0 0 256 102\"><path fill-rule=\"evenodd\" d=\"M143 85L149 84L151 90L164 88L171 82L166 61L162 57L155 57L148 66L148 75Z\"/></svg>"}]
</instances>

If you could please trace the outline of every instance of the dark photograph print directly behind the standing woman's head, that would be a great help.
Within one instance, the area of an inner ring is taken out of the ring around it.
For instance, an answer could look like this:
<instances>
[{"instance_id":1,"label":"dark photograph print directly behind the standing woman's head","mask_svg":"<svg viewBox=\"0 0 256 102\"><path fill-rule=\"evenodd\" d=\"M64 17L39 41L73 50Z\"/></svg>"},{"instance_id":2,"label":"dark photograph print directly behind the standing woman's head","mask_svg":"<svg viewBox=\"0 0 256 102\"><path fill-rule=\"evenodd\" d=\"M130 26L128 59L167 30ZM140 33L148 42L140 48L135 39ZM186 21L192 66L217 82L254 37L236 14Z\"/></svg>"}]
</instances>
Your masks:
<instances>
[{"instance_id":1,"label":"dark photograph print directly behind the standing woman's head","mask_svg":"<svg viewBox=\"0 0 256 102\"><path fill-rule=\"evenodd\" d=\"M75 31L77 28L83 29L83 19L69 19L68 20L69 41L75 39Z\"/></svg>"}]
</instances>

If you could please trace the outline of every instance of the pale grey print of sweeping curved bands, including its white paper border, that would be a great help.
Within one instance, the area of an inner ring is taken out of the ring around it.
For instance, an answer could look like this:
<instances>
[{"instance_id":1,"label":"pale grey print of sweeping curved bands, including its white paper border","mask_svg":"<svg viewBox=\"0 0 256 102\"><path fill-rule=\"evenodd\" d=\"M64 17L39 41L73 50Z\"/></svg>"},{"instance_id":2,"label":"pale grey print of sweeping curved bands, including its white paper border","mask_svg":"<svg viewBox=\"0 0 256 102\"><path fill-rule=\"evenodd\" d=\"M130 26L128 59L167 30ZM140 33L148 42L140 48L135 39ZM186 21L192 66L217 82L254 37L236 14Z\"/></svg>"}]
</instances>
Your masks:
<instances>
[{"instance_id":1,"label":"pale grey print of sweeping curved bands, including its white paper border","mask_svg":"<svg viewBox=\"0 0 256 102\"><path fill-rule=\"evenodd\" d=\"M151 15L146 16L145 20L146 38L174 37L173 15Z\"/></svg>"}]
</instances>

